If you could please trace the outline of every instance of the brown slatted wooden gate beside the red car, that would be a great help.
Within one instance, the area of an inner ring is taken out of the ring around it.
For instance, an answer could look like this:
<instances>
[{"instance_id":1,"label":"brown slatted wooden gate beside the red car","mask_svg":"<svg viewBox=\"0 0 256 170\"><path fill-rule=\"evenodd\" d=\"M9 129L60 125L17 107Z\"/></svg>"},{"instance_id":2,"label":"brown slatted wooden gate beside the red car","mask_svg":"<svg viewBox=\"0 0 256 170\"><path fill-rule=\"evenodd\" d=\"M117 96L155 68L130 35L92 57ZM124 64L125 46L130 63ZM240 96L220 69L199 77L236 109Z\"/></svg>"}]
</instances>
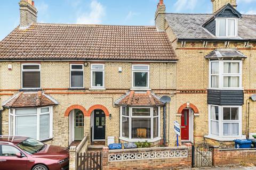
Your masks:
<instances>
[{"instance_id":1,"label":"brown slatted wooden gate beside the red car","mask_svg":"<svg viewBox=\"0 0 256 170\"><path fill-rule=\"evenodd\" d=\"M102 151L77 154L77 170L102 170Z\"/></svg>"}]
</instances>

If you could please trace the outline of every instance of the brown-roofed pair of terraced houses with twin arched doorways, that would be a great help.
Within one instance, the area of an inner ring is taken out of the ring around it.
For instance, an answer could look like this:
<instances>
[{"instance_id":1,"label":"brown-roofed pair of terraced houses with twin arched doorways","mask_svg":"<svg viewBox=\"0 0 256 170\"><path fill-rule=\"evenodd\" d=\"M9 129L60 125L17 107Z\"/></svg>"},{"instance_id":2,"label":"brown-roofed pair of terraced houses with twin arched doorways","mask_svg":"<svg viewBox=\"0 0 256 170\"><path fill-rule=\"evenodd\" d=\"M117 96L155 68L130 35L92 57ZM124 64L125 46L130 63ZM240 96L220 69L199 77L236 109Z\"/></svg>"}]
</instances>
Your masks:
<instances>
[{"instance_id":1,"label":"brown-roofed pair of terraced houses with twin arched doorways","mask_svg":"<svg viewBox=\"0 0 256 170\"><path fill-rule=\"evenodd\" d=\"M34 3L19 5L20 25L0 44L2 134L60 146L85 134L101 145L163 138L160 97L175 101L177 70L165 32L37 23Z\"/></svg>"}]
</instances>

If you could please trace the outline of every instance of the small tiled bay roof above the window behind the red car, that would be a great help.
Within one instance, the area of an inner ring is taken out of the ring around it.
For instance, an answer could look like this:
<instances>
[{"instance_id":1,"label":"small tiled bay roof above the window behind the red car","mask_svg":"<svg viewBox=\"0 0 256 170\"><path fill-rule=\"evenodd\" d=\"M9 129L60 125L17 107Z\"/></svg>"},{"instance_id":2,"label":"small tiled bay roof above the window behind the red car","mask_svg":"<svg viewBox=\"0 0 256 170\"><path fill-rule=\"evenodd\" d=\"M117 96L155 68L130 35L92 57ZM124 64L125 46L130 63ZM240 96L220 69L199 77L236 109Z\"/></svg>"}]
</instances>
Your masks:
<instances>
[{"instance_id":1,"label":"small tiled bay roof above the window behind the red car","mask_svg":"<svg viewBox=\"0 0 256 170\"><path fill-rule=\"evenodd\" d=\"M3 107L6 108L21 108L21 107L43 107L58 105L58 102L48 95L38 92L19 92L12 98L7 100Z\"/></svg>"}]
</instances>

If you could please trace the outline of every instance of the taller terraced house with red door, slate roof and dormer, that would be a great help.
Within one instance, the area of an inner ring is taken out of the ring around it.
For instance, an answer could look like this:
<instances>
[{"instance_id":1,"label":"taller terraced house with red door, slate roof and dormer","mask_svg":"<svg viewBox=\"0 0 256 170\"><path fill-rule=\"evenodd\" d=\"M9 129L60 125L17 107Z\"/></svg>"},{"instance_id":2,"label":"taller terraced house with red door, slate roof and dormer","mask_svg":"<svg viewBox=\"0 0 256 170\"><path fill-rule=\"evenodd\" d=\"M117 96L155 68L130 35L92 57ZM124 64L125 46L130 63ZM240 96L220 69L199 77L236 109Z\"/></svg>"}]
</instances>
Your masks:
<instances>
[{"instance_id":1,"label":"taller terraced house with red door, slate roof and dormer","mask_svg":"<svg viewBox=\"0 0 256 170\"><path fill-rule=\"evenodd\" d=\"M211 2L210 14L183 14L166 13L160 1L156 26L179 60L172 114L181 140L229 146L256 133L256 15L239 13L235 0Z\"/></svg>"}]
</instances>

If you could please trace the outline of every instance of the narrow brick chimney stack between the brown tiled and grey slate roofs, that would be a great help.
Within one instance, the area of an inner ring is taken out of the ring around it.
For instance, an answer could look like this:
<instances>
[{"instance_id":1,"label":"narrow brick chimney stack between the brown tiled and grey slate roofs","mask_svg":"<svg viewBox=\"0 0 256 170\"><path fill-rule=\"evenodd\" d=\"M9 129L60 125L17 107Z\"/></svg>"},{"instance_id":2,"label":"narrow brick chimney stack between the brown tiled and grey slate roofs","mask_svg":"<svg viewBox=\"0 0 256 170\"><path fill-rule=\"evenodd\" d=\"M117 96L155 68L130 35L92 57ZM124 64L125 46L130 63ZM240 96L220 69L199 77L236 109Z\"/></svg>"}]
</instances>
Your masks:
<instances>
[{"instance_id":1,"label":"narrow brick chimney stack between the brown tiled and grey slate roofs","mask_svg":"<svg viewBox=\"0 0 256 170\"><path fill-rule=\"evenodd\" d=\"M155 13L155 25L157 31L163 32L165 31L165 4L164 0L159 0L157 4L157 9Z\"/></svg>"}]
</instances>

